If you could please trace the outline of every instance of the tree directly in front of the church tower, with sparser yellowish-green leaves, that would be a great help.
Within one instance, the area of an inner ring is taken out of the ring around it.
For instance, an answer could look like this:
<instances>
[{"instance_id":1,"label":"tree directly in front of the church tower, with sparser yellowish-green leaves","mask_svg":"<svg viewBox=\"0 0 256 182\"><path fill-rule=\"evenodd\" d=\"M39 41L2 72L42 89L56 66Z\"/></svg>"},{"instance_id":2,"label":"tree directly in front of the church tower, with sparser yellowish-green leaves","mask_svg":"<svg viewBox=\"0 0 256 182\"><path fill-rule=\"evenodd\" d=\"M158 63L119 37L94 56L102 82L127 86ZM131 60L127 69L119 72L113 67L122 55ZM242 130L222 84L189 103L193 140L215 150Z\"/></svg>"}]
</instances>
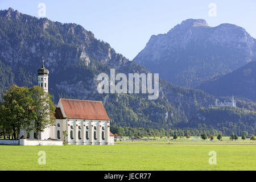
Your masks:
<instances>
[{"instance_id":1,"label":"tree directly in front of the church tower, with sparser yellowish-green leaves","mask_svg":"<svg viewBox=\"0 0 256 182\"><path fill-rule=\"evenodd\" d=\"M33 86L29 89L32 97L32 107L34 111L34 126L33 129L38 139L39 132L44 131L46 127L52 126L55 123L54 117L49 117L55 113L55 106L51 100L51 95L44 92L40 86Z\"/></svg>"}]
</instances>

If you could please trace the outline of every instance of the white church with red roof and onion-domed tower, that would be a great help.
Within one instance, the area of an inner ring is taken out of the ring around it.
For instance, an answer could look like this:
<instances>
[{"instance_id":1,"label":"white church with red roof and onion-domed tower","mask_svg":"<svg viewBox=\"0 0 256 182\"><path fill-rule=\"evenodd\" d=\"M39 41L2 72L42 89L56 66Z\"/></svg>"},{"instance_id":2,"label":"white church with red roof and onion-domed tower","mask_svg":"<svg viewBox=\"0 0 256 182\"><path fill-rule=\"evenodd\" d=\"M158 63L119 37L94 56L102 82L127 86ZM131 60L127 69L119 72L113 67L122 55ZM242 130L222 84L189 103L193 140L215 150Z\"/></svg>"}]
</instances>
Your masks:
<instances>
[{"instance_id":1,"label":"white church with red roof and onion-domed tower","mask_svg":"<svg viewBox=\"0 0 256 182\"><path fill-rule=\"evenodd\" d=\"M48 92L49 71L38 69L38 86ZM109 145L114 144L114 135L110 133L110 119L101 101L86 101L60 98L55 110L53 126L39 133L39 140L64 140L63 131L68 134L67 144ZM27 139L36 139L34 131L21 131Z\"/></svg>"}]
</instances>

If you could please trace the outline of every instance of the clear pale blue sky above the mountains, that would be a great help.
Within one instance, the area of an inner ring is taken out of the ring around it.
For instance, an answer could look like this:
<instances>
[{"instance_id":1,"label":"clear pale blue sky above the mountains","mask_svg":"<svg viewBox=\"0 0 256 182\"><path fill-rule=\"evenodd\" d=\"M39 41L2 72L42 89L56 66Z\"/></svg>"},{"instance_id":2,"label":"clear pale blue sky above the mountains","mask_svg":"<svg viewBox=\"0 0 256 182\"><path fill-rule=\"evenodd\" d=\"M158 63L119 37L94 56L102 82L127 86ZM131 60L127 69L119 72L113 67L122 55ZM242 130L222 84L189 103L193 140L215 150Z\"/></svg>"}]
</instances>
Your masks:
<instances>
[{"instance_id":1,"label":"clear pale blue sky above the mountains","mask_svg":"<svg viewBox=\"0 0 256 182\"><path fill-rule=\"evenodd\" d=\"M41 2L46 4L46 18L81 24L130 60L151 35L164 34L188 18L205 19L209 26L237 24L256 38L256 0L1 0L0 9L12 7L38 17ZM208 14L210 3L216 4L216 16Z\"/></svg>"}]
</instances>

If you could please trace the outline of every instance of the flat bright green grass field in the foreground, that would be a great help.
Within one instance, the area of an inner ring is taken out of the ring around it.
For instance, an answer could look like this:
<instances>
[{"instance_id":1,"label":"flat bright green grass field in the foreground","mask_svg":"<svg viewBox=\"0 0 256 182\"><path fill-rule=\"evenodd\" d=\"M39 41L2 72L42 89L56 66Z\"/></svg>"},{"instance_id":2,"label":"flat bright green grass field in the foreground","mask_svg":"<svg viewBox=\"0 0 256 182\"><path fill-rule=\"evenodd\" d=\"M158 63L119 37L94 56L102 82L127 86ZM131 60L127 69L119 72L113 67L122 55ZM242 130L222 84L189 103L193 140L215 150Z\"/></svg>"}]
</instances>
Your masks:
<instances>
[{"instance_id":1,"label":"flat bright green grass field in the foreground","mask_svg":"<svg viewBox=\"0 0 256 182\"><path fill-rule=\"evenodd\" d=\"M256 170L256 142L120 141L114 146L0 146L0 170ZM38 152L46 152L46 165ZM216 151L217 164L209 164Z\"/></svg>"}]
</instances>

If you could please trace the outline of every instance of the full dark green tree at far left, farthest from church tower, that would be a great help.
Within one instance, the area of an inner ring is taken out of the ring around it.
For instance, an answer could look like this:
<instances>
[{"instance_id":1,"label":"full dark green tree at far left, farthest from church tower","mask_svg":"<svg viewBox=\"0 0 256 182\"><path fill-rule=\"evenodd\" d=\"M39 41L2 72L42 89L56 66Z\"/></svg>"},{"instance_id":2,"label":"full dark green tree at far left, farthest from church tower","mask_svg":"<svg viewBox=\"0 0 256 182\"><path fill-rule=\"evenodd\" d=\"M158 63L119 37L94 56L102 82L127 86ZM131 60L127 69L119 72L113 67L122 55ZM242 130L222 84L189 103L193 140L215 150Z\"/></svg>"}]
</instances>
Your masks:
<instances>
[{"instance_id":1,"label":"full dark green tree at far left, farthest from church tower","mask_svg":"<svg viewBox=\"0 0 256 182\"><path fill-rule=\"evenodd\" d=\"M14 139L18 139L20 129L28 128L34 119L32 102L26 87L13 85L3 94L1 123L3 131L12 132Z\"/></svg>"}]
</instances>

